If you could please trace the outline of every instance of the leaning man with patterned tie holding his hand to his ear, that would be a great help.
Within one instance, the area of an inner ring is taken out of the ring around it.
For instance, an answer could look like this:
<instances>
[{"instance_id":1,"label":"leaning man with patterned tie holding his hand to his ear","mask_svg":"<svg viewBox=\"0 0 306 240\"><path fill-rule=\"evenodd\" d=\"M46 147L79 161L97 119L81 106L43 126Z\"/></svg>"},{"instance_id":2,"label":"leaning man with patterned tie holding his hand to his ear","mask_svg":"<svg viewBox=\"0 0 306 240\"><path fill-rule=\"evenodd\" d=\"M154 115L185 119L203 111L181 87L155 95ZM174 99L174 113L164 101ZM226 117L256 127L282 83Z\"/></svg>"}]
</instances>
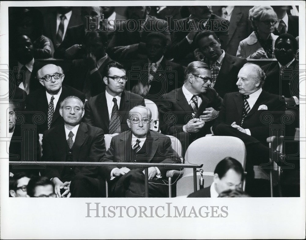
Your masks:
<instances>
[{"instance_id":1,"label":"leaning man with patterned tie holding his hand to his ear","mask_svg":"<svg viewBox=\"0 0 306 240\"><path fill-rule=\"evenodd\" d=\"M220 40L212 31L200 32L195 39L198 60L207 63L211 68L211 88L219 96L237 91L237 75L241 67L247 63L245 58L231 56L221 49ZM200 55L200 56L199 56Z\"/></svg>"}]
</instances>

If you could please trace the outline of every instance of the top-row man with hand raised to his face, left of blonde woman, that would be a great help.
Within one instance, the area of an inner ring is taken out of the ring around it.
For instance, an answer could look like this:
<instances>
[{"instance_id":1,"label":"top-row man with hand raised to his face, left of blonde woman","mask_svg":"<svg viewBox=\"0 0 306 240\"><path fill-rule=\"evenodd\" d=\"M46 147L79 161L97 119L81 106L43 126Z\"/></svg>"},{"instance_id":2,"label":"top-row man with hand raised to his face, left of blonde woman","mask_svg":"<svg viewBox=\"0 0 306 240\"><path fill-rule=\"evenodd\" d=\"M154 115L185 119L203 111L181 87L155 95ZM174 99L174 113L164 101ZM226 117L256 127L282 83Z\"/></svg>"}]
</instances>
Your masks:
<instances>
[{"instance_id":1,"label":"top-row man with hand raised to his face, left of blonde woman","mask_svg":"<svg viewBox=\"0 0 306 240\"><path fill-rule=\"evenodd\" d=\"M191 62L196 49L194 39L200 31L214 31L222 49L228 44L229 21L211 13L210 6L190 6L191 15L178 20L172 35L171 56L174 61Z\"/></svg>"}]
</instances>

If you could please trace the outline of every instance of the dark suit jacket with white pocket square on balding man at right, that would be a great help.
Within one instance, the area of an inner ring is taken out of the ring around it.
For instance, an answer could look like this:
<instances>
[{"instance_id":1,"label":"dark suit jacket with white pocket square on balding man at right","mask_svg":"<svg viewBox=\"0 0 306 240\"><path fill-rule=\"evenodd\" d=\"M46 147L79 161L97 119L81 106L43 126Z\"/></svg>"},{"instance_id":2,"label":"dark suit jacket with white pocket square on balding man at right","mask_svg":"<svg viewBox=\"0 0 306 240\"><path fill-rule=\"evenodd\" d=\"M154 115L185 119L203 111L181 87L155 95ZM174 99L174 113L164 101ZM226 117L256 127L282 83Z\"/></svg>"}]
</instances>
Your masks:
<instances>
[{"instance_id":1,"label":"dark suit jacket with white pocket square on balding man at right","mask_svg":"<svg viewBox=\"0 0 306 240\"><path fill-rule=\"evenodd\" d=\"M261 105L266 105L267 110L258 110ZM267 93L263 90L251 111L249 111L248 115L244 118L242 128L250 129L251 136L267 144L267 137L270 136L270 124L279 124L280 116L284 111L285 102L282 102L279 96ZM212 130L214 131L219 123L232 124L236 122L237 125L241 126L242 113L242 94L239 92L225 94L221 110ZM272 122L270 121L271 115Z\"/></svg>"}]
</instances>

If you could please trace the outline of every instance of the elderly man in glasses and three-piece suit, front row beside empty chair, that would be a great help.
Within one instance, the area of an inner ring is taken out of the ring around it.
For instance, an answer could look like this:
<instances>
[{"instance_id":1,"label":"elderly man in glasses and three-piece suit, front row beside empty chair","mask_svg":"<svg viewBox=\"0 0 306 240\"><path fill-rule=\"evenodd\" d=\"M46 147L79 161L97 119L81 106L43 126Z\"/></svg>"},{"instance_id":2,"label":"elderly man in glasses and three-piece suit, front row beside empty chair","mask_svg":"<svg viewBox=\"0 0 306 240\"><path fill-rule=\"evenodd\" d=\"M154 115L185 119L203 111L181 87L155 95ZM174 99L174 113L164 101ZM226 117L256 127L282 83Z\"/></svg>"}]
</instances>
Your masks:
<instances>
[{"instance_id":1,"label":"elderly man in glasses and three-piece suit, front row beside empty chair","mask_svg":"<svg viewBox=\"0 0 306 240\"><path fill-rule=\"evenodd\" d=\"M130 131L114 136L101 162L180 163L178 154L172 149L170 138L150 130L153 124L151 111L136 106L127 119ZM110 180L114 197L144 197L144 169L130 170L127 167L102 167L103 176ZM166 172L169 168L148 168L149 197L166 197Z\"/></svg>"}]
</instances>

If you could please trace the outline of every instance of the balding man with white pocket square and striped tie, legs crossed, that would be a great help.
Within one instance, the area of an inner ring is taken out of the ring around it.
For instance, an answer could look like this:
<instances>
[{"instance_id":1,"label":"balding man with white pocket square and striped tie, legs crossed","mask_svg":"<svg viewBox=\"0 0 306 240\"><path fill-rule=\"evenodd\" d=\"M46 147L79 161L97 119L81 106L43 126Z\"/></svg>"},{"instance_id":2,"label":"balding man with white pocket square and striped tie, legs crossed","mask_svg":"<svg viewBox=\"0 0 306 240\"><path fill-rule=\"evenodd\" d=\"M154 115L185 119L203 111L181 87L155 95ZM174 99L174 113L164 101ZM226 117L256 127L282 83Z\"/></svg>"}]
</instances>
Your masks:
<instances>
[{"instance_id":1,"label":"balding man with white pocket square and striped tie, legs crossed","mask_svg":"<svg viewBox=\"0 0 306 240\"><path fill-rule=\"evenodd\" d=\"M269 162L267 137L271 132L265 116L272 115L272 123L278 125L285 112L285 103L279 96L262 90L264 79L265 74L258 65L245 64L238 73L239 93L224 96L219 116L212 127L215 135L235 136L244 142L248 178L252 178L253 165ZM272 159L281 165L285 156L274 151Z\"/></svg>"}]
</instances>

